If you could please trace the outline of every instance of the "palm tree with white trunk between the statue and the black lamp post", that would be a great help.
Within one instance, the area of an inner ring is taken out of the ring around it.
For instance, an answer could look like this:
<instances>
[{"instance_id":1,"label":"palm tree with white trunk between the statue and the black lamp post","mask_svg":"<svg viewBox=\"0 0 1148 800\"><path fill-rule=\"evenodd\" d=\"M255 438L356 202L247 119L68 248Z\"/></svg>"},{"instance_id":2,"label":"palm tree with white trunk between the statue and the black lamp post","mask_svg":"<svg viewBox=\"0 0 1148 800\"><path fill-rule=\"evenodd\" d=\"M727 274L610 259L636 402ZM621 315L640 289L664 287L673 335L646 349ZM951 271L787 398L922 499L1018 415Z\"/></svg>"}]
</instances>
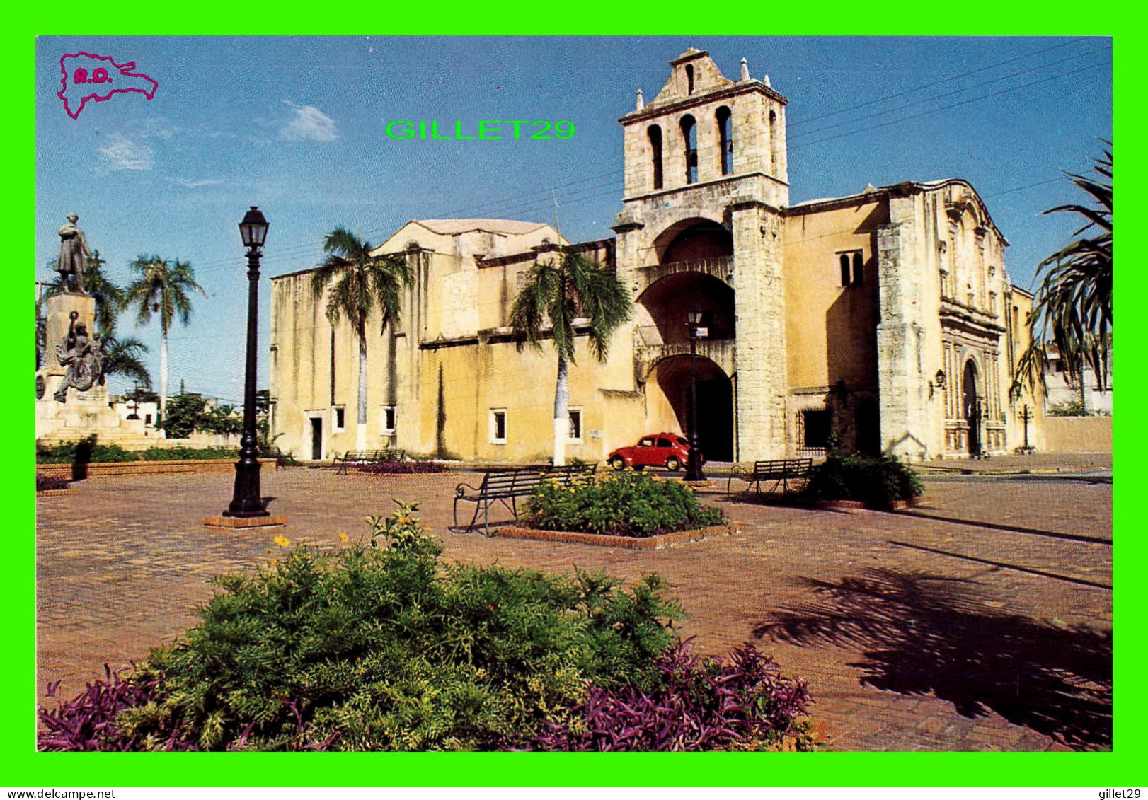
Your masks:
<instances>
[{"instance_id":1,"label":"palm tree with white trunk between the statue and the black lamp post","mask_svg":"<svg viewBox=\"0 0 1148 800\"><path fill-rule=\"evenodd\" d=\"M187 325L192 319L191 293L207 292L195 281L195 271L188 262L176 259L174 265L160 256L139 256L127 265L139 277L124 289L124 308L138 306L135 321L147 325L152 314L160 314L160 415L168 407L168 332L171 324Z\"/></svg>"}]
</instances>

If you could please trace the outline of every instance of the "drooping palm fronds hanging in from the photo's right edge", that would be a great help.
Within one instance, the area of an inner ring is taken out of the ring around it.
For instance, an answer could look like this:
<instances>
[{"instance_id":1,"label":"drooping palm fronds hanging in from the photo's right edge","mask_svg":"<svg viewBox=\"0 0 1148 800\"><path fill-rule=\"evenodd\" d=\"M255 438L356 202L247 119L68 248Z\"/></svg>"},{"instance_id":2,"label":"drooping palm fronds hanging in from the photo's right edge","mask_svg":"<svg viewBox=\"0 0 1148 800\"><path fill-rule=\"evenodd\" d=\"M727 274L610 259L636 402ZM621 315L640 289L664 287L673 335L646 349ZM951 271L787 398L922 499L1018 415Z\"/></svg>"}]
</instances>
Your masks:
<instances>
[{"instance_id":1,"label":"drooping palm fronds hanging in from the photo's right edge","mask_svg":"<svg viewBox=\"0 0 1148 800\"><path fill-rule=\"evenodd\" d=\"M1109 148L1112 142L1106 141ZM1070 211L1084 217L1079 236L1042 261L1037 274L1044 280L1029 317L1031 341L1021 356L1018 372L1031 385L1044 380L1047 344L1055 344L1068 378L1079 382L1084 394L1084 372L1091 368L1096 388L1107 388L1110 331L1112 328L1112 150L1106 149L1093 168L1102 178L1095 180L1065 172L1091 195L1093 205L1065 203L1044 213ZM1081 236L1080 234L1093 235Z\"/></svg>"}]
</instances>

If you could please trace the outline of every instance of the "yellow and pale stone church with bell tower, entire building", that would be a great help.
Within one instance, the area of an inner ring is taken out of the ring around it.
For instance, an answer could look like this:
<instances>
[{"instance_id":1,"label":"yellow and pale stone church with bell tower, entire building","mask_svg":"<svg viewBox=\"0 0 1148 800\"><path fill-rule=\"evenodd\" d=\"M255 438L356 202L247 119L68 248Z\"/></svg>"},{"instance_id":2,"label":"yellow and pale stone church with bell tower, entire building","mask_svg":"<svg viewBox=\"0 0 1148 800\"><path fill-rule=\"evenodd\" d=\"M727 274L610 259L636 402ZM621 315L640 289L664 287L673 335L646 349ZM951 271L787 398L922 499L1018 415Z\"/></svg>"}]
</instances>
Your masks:
<instances>
[{"instance_id":1,"label":"yellow and pale stone church with bell tower, entire building","mask_svg":"<svg viewBox=\"0 0 1148 800\"><path fill-rule=\"evenodd\" d=\"M831 441L913 459L1009 452L1011 393L1032 296L1009 282L1002 233L964 180L867 186L789 201L786 100L689 49L625 131L614 236L571 243L549 225L413 220L377 254L413 275L402 319L369 325L367 424L358 343L332 327L309 270L272 279L278 444L303 459L358 448L502 463L551 456L557 359L509 327L522 277L560 248L616 271L634 314L605 363L581 339L567 458L603 461L642 435L685 432L687 311L700 306L698 418L709 460L819 455ZM1040 446L1042 418L1029 422Z\"/></svg>"}]
</instances>

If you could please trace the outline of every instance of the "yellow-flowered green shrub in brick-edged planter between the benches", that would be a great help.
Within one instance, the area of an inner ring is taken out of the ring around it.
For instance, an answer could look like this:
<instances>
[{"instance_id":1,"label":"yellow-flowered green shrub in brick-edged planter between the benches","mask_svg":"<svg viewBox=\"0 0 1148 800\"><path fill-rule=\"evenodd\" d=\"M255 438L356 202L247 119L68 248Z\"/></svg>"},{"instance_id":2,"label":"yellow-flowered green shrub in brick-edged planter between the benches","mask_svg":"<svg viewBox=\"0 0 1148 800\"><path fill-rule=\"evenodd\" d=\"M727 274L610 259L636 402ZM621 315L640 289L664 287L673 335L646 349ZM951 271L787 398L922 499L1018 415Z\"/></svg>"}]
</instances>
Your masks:
<instances>
[{"instance_id":1,"label":"yellow-flowered green shrub in brick-edged planter between the benches","mask_svg":"<svg viewBox=\"0 0 1148 800\"><path fill-rule=\"evenodd\" d=\"M705 508L680 481L641 472L543 481L526 502L525 521L544 530L646 537L721 525L716 508Z\"/></svg>"}]
</instances>

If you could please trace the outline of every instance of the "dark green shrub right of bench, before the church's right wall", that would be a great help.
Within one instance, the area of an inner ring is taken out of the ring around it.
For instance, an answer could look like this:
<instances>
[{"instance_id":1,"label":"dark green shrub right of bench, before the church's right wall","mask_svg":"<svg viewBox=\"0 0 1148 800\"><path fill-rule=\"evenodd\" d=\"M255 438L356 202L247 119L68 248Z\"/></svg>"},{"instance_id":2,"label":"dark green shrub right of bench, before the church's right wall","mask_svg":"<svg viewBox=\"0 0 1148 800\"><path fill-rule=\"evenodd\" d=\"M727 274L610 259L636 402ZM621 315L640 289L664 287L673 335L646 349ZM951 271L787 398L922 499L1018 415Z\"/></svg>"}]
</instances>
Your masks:
<instances>
[{"instance_id":1,"label":"dark green shrub right of bench, before the church's right wall","mask_svg":"<svg viewBox=\"0 0 1148 800\"><path fill-rule=\"evenodd\" d=\"M908 500L922 491L917 473L895 458L830 456L813 468L802 494L819 500L861 500L887 508L893 500Z\"/></svg>"}]
</instances>

